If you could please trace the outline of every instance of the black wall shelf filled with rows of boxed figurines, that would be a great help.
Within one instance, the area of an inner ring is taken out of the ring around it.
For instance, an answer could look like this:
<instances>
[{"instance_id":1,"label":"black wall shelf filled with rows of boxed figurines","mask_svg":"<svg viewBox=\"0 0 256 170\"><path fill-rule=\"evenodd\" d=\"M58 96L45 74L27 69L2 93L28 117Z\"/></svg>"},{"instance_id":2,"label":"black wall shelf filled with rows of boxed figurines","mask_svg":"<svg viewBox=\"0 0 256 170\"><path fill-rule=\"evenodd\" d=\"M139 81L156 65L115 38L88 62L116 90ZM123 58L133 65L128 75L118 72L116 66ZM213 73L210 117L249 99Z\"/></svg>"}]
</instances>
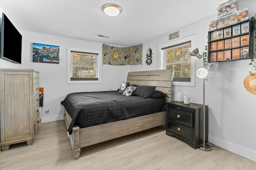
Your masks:
<instances>
[{"instance_id":1,"label":"black wall shelf filled with rows of boxed figurines","mask_svg":"<svg viewBox=\"0 0 256 170\"><path fill-rule=\"evenodd\" d=\"M208 62L253 59L252 36L250 19L208 31Z\"/></svg>"}]
</instances>

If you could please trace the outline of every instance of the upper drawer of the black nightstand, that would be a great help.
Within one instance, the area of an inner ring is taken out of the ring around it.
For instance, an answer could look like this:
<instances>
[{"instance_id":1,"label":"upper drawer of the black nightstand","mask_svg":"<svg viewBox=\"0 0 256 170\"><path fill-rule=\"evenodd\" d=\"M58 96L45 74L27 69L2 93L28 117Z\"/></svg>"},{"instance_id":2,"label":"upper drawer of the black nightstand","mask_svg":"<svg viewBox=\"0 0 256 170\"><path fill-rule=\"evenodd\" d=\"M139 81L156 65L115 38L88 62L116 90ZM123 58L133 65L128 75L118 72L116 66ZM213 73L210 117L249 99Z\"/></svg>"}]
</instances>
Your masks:
<instances>
[{"instance_id":1,"label":"upper drawer of the black nightstand","mask_svg":"<svg viewBox=\"0 0 256 170\"><path fill-rule=\"evenodd\" d=\"M193 113L168 108L167 118L193 127Z\"/></svg>"}]
</instances>

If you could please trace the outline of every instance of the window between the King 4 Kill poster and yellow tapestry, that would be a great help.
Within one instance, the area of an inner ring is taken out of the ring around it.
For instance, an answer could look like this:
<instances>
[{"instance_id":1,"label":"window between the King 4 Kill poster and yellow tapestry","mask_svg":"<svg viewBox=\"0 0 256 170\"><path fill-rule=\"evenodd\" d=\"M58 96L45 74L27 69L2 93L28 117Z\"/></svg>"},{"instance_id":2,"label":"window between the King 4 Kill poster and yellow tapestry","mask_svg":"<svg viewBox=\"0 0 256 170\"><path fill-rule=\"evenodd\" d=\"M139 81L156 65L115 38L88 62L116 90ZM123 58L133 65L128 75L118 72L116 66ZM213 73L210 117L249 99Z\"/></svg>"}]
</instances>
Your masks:
<instances>
[{"instance_id":1,"label":"window between the King 4 Kill poster and yellow tapestry","mask_svg":"<svg viewBox=\"0 0 256 170\"><path fill-rule=\"evenodd\" d=\"M99 83L99 53L68 50L68 84Z\"/></svg>"}]
</instances>

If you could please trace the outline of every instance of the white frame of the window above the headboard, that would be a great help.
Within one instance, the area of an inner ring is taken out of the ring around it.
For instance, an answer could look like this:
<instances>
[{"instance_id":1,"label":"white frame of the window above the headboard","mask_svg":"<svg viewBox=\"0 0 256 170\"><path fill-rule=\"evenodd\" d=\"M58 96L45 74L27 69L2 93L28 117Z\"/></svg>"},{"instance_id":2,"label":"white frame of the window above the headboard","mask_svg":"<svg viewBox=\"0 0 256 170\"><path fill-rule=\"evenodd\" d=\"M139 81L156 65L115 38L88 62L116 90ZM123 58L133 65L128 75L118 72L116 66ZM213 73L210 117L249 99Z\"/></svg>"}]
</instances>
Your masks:
<instances>
[{"instance_id":1,"label":"white frame of the window above the headboard","mask_svg":"<svg viewBox=\"0 0 256 170\"><path fill-rule=\"evenodd\" d=\"M195 49L194 44L195 44L195 35L190 35L188 37L184 37L181 39L173 40L170 41L169 43L159 45L158 46L158 68L161 70L165 69L165 55L164 55L164 50L162 48L177 45L180 43L184 43L186 41L191 41L191 49ZM174 70L175 71L175 70ZM191 57L191 81L190 82L176 82L173 81L172 85L174 86L195 86L195 57Z\"/></svg>"}]
</instances>

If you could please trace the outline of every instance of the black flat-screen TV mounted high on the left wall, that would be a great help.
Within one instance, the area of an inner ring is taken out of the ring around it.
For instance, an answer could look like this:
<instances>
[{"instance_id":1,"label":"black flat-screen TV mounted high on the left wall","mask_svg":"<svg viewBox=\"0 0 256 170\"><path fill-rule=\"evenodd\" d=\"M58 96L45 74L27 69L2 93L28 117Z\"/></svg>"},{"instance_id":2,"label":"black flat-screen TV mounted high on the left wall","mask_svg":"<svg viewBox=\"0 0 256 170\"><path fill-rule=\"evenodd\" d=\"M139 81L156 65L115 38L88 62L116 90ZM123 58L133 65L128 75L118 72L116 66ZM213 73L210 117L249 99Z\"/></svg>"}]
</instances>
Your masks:
<instances>
[{"instance_id":1,"label":"black flat-screen TV mounted high on the left wall","mask_svg":"<svg viewBox=\"0 0 256 170\"><path fill-rule=\"evenodd\" d=\"M21 64L22 35L7 16L2 14L1 59Z\"/></svg>"}]
</instances>

